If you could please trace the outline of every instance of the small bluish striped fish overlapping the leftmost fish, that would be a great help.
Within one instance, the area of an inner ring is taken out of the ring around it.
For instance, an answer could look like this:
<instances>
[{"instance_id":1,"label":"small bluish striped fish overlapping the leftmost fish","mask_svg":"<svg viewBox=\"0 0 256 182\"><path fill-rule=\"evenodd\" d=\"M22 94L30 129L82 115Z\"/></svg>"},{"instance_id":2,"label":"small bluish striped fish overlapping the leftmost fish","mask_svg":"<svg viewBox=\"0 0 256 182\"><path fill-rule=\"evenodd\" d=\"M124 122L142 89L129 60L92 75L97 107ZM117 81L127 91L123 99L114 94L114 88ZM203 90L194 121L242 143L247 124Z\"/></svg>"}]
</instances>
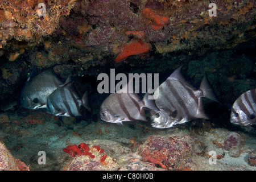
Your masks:
<instances>
[{"instance_id":1,"label":"small bluish striped fish overlapping the leftmost fish","mask_svg":"<svg viewBox=\"0 0 256 182\"><path fill-rule=\"evenodd\" d=\"M90 109L87 91L82 98L73 87L73 81L56 89L47 98L46 111L49 114L63 117L76 117L81 116L81 106L84 106L89 111Z\"/></svg>"}]
</instances>

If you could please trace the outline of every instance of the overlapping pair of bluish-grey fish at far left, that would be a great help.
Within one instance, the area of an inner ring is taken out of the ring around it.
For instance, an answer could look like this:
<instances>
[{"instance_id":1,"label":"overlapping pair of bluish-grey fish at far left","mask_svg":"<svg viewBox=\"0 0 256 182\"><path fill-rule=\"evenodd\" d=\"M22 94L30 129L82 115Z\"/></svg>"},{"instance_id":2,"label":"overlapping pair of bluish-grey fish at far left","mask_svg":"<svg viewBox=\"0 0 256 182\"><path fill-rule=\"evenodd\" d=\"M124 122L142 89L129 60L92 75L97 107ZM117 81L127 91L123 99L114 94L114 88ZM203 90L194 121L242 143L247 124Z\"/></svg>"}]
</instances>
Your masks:
<instances>
[{"instance_id":1,"label":"overlapping pair of bluish-grey fish at far left","mask_svg":"<svg viewBox=\"0 0 256 182\"><path fill-rule=\"evenodd\" d=\"M46 109L47 113L58 117L81 116L81 106L91 111L87 92L80 98L72 84L71 76L62 83L53 67L48 68L28 77L20 94L20 104L27 109Z\"/></svg>"}]
</instances>

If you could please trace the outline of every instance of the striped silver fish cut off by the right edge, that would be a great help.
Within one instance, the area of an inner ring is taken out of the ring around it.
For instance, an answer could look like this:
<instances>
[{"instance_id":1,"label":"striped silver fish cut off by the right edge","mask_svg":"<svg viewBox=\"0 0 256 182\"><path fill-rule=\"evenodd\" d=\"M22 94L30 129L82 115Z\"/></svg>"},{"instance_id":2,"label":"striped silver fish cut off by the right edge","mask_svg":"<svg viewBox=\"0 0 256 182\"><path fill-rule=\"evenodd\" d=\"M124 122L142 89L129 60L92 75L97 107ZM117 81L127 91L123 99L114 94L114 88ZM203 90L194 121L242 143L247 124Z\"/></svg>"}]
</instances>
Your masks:
<instances>
[{"instance_id":1,"label":"striped silver fish cut off by the right edge","mask_svg":"<svg viewBox=\"0 0 256 182\"><path fill-rule=\"evenodd\" d=\"M230 122L242 126L256 124L256 88L237 98L232 106Z\"/></svg>"}]
</instances>

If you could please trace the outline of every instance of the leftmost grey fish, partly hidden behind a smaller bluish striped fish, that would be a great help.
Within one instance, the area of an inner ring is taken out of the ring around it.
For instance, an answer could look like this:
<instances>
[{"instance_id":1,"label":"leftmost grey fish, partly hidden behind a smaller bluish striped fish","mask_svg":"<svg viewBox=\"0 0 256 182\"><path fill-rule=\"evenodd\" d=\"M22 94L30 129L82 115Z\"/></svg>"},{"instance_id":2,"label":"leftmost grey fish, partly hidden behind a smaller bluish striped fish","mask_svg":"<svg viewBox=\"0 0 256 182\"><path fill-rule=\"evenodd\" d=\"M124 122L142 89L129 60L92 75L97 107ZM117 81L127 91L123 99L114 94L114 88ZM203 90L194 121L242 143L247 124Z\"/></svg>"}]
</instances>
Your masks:
<instances>
[{"instance_id":1,"label":"leftmost grey fish, partly hidden behind a smaller bluish striped fish","mask_svg":"<svg viewBox=\"0 0 256 182\"><path fill-rule=\"evenodd\" d=\"M53 72L53 68L54 66L34 77L32 75L34 75L36 67L33 69L20 93L20 104L23 107L26 109L45 109L49 95L57 88L70 82L71 76L64 83L61 82Z\"/></svg>"}]
</instances>

